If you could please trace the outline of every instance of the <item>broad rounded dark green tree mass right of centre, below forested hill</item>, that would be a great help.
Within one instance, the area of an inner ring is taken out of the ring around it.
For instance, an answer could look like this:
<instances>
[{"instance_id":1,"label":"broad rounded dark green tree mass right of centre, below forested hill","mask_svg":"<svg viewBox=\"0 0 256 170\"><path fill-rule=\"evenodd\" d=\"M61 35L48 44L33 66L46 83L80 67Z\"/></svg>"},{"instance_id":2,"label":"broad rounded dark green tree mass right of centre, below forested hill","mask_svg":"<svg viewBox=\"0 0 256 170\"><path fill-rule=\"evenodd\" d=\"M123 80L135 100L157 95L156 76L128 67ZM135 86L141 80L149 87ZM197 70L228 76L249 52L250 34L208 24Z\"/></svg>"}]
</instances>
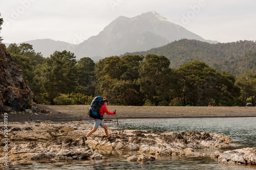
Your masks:
<instances>
[{"instance_id":1,"label":"broad rounded dark green tree mass right of centre, below forested hill","mask_svg":"<svg viewBox=\"0 0 256 170\"><path fill-rule=\"evenodd\" d=\"M193 106L205 106L214 100L217 106L220 101L229 106L228 102L239 96L240 89L234 84L236 77L226 71L216 71L204 62L190 61L176 72L183 87L179 92L184 105L189 102Z\"/></svg>"}]
</instances>

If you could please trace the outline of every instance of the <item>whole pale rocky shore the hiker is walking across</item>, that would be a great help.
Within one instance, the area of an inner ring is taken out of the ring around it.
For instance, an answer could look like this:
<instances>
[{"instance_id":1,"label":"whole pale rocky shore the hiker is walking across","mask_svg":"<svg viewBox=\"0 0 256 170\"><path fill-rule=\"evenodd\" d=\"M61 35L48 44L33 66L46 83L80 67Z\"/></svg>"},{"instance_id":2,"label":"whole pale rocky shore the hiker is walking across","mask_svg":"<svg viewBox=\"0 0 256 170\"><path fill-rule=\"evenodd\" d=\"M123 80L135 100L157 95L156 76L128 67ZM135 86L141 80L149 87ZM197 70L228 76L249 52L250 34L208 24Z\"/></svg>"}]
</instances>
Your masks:
<instances>
[{"instance_id":1,"label":"whole pale rocky shore the hiker is walking across","mask_svg":"<svg viewBox=\"0 0 256 170\"><path fill-rule=\"evenodd\" d=\"M3 129L3 123L0 123ZM84 122L50 122L34 120L9 123L8 163L30 164L35 160L70 161L102 159L100 151L118 151L127 161L154 161L159 156L209 156L198 149L231 147L231 139L223 134L206 132L169 132L121 130L110 128L114 140L109 141L99 129L88 140L91 126ZM4 162L5 137L1 134L1 158ZM133 152L130 152L133 151ZM132 153L132 154L131 154ZM135 153L135 154L134 154Z\"/></svg>"}]
</instances>

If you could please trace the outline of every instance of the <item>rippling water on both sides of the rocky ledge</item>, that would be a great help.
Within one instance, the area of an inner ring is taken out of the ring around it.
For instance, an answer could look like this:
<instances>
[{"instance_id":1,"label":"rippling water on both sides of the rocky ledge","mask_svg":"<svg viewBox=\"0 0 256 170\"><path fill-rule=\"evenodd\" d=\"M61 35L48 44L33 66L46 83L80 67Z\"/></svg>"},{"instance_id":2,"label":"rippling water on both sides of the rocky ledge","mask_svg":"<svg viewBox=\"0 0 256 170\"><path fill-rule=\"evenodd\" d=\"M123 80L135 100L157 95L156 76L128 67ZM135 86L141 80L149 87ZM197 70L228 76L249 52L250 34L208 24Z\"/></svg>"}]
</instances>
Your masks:
<instances>
[{"instance_id":1,"label":"rippling water on both sides of the rocky ledge","mask_svg":"<svg viewBox=\"0 0 256 170\"><path fill-rule=\"evenodd\" d=\"M246 118L175 118L123 119L120 129L217 132L230 136L240 148L256 147L256 117ZM106 123L117 128L116 123ZM91 125L92 126L92 125ZM111 133L111 129L110 129ZM17 164L9 169L256 169L256 165L221 164L208 157L157 157L153 162L127 162L117 154L105 154L102 160Z\"/></svg>"}]
</instances>

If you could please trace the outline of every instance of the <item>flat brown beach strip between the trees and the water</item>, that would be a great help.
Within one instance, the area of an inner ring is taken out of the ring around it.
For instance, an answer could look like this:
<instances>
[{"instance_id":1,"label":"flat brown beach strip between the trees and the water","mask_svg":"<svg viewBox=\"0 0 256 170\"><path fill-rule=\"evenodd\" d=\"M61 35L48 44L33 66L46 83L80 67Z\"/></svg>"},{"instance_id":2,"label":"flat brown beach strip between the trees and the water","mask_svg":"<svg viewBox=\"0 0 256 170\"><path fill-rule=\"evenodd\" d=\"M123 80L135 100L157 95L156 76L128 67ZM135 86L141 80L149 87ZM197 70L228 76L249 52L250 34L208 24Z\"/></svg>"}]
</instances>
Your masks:
<instances>
[{"instance_id":1,"label":"flat brown beach strip between the trees and the water","mask_svg":"<svg viewBox=\"0 0 256 170\"><path fill-rule=\"evenodd\" d=\"M51 120L69 122L90 120L87 115L89 107L89 105L38 105L39 109L49 110L51 114L9 114L9 121ZM107 108L109 111L117 110L118 119L256 116L256 107L108 106ZM104 114L104 119L116 119L116 116Z\"/></svg>"}]
</instances>

